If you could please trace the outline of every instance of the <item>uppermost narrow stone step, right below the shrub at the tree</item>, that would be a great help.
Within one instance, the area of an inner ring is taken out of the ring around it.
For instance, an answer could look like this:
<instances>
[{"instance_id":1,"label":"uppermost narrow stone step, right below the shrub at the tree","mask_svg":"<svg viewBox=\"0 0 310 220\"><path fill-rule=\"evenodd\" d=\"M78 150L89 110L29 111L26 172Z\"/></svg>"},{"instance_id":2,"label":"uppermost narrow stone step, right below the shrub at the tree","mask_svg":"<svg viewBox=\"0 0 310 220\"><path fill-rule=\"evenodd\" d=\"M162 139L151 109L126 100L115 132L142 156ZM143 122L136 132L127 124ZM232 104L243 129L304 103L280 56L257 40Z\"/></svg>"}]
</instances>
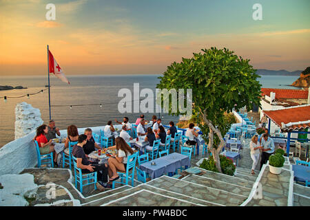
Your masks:
<instances>
[{"instance_id":1,"label":"uppermost narrow stone step, right below the shrub at the tree","mask_svg":"<svg viewBox=\"0 0 310 220\"><path fill-rule=\"evenodd\" d=\"M225 174L214 173L209 170L204 170L205 174L202 177L208 177L210 179L215 179L219 181L224 181L225 183L235 184L238 186L245 186L247 188L252 188L254 181L249 181L239 177L233 177Z\"/></svg>"}]
</instances>

